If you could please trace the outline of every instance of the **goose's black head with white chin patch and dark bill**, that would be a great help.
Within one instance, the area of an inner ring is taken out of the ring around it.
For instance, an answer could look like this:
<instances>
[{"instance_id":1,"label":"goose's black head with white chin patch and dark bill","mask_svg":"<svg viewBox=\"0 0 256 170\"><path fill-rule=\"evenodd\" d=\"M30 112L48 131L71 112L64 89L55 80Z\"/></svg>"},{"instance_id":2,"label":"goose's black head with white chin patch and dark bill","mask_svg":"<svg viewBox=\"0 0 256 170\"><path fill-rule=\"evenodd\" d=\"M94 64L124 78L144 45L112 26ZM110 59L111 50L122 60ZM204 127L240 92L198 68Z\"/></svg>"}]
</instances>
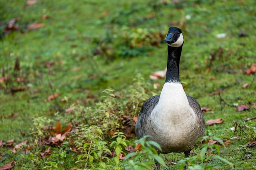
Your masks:
<instances>
[{"instance_id":1,"label":"goose's black head with white chin patch and dark bill","mask_svg":"<svg viewBox=\"0 0 256 170\"><path fill-rule=\"evenodd\" d=\"M184 43L182 31L177 27L170 27L164 42L171 47L180 47Z\"/></svg>"}]
</instances>

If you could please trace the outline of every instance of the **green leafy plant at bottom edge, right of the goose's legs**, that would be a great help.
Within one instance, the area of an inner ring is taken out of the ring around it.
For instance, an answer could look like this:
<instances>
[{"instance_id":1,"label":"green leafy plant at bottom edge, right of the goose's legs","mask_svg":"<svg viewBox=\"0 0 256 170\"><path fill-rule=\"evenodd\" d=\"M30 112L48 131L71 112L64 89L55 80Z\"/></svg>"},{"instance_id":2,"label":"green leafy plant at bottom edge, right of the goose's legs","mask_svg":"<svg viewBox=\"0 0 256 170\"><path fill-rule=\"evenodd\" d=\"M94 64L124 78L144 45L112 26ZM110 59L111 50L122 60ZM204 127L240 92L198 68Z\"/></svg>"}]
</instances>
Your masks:
<instances>
[{"instance_id":1,"label":"green leafy plant at bottom edge, right of the goose's legs","mask_svg":"<svg viewBox=\"0 0 256 170\"><path fill-rule=\"evenodd\" d=\"M214 141L214 140L218 141L220 144L222 144L225 147L225 144L221 139L217 137L213 137L211 134L209 134L208 136L204 136L201 139L201 141ZM180 170L183 170L185 166L184 164L185 162L187 162L189 165L187 168L188 170L214 170L215 168L221 168L221 167L214 166L214 164L210 162L216 159L224 163L227 163L231 167L231 169L235 168L235 165L233 163L229 162L227 159L220 157L219 154L220 154L220 146L218 144L209 144L207 142L206 144L202 145L199 155L180 160L178 162L178 164L181 164L179 168Z\"/></svg>"}]
</instances>

